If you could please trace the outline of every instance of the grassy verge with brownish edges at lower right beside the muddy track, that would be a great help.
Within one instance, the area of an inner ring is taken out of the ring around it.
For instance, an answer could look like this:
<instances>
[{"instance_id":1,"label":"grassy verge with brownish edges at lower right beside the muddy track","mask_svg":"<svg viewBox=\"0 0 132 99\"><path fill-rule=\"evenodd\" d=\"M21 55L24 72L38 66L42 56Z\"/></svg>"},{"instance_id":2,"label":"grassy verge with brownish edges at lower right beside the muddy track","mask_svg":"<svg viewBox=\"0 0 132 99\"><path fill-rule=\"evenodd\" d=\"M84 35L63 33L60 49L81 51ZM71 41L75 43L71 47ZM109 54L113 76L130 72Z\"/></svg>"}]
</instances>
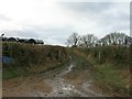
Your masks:
<instances>
[{"instance_id":1,"label":"grassy verge with brownish edges at lower right beside the muddy track","mask_svg":"<svg viewBox=\"0 0 132 99\"><path fill-rule=\"evenodd\" d=\"M130 96L130 70L117 69L112 65L97 66L92 73L96 89L109 96Z\"/></svg>"}]
</instances>

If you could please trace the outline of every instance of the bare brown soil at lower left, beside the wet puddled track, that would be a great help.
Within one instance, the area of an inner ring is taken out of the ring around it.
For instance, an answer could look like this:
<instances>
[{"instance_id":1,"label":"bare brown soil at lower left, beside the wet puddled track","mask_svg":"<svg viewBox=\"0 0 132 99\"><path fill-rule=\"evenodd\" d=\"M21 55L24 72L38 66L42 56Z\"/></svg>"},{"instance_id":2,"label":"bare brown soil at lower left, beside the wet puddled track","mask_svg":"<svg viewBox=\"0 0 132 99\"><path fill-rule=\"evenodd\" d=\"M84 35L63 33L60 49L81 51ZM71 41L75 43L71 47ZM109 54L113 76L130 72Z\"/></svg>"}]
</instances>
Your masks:
<instances>
[{"instance_id":1,"label":"bare brown soil at lower left, beside the wet puddled track","mask_svg":"<svg viewBox=\"0 0 132 99\"><path fill-rule=\"evenodd\" d=\"M37 91L45 94L52 91L52 88L45 84L44 78L38 75L18 77L2 82L3 97L32 97Z\"/></svg>"}]
</instances>

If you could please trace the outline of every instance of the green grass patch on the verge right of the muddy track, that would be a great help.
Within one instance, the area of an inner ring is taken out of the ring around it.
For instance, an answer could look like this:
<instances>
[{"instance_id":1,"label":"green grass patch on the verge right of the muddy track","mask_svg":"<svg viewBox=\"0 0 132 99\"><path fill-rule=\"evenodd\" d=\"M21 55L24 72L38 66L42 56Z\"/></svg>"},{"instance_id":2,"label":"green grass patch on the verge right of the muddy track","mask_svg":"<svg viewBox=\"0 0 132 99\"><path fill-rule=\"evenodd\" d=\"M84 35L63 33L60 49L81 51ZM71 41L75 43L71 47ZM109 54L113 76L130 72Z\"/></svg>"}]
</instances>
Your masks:
<instances>
[{"instance_id":1,"label":"green grass patch on the verge right of the muddy track","mask_svg":"<svg viewBox=\"0 0 132 99\"><path fill-rule=\"evenodd\" d=\"M127 70L117 69L112 64L102 64L95 66L92 76L95 82L107 91L129 94Z\"/></svg>"}]
</instances>

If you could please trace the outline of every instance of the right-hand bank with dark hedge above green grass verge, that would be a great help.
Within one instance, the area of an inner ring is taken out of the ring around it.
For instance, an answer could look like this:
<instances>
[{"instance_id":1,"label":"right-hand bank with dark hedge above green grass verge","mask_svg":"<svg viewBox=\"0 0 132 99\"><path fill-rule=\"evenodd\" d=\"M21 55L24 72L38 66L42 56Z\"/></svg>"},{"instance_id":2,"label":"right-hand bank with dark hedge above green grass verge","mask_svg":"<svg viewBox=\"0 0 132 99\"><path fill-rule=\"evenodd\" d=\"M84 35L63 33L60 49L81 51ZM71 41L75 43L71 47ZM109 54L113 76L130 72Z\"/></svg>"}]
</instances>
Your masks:
<instances>
[{"instance_id":1,"label":"right-hand bank with dark hedge above green grass verge","mask_svg":"<svg viewBox=\"0 0 132 99\"><path fill-rule=\"evenodd\" d=\"M101 61L98 52L101 51ZM103 52L103 53L102 53ZM116 54L116 56L114 56ZM116 96L130 95L130 68L127 47L95 47L73 50L73 57L78 69L88 64L89 72L95 80L95 87Z\"/></svg>"}]
</instances>

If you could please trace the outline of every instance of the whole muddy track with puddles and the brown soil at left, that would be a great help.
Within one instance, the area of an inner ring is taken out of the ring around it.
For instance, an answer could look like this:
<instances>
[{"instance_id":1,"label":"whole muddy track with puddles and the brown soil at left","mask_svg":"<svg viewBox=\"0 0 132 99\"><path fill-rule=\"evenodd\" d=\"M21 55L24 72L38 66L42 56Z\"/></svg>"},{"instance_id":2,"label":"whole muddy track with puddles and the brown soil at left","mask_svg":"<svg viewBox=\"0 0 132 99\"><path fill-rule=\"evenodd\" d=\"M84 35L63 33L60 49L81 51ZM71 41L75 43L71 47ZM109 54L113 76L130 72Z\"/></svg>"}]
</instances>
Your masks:
<instances>
[{"instance_id":1,"label":"whole muddy track with puddles and the brown soil at left","mask_svg":"<svg viewBox=\"0 0 132 99\"><path fill-rule=\"evenodd\" d=\"M81 89L77 89L75 85L67 84L63 76L67 75L75 67L74 63L64 69L56 72L50 77L31 76L26 78L15 78L13 80L3 81L4 97L102 97L101 92L95 92L89 89L92 85L91 80L87 80L81 85Z\"/></svg>"}]
</instances>

